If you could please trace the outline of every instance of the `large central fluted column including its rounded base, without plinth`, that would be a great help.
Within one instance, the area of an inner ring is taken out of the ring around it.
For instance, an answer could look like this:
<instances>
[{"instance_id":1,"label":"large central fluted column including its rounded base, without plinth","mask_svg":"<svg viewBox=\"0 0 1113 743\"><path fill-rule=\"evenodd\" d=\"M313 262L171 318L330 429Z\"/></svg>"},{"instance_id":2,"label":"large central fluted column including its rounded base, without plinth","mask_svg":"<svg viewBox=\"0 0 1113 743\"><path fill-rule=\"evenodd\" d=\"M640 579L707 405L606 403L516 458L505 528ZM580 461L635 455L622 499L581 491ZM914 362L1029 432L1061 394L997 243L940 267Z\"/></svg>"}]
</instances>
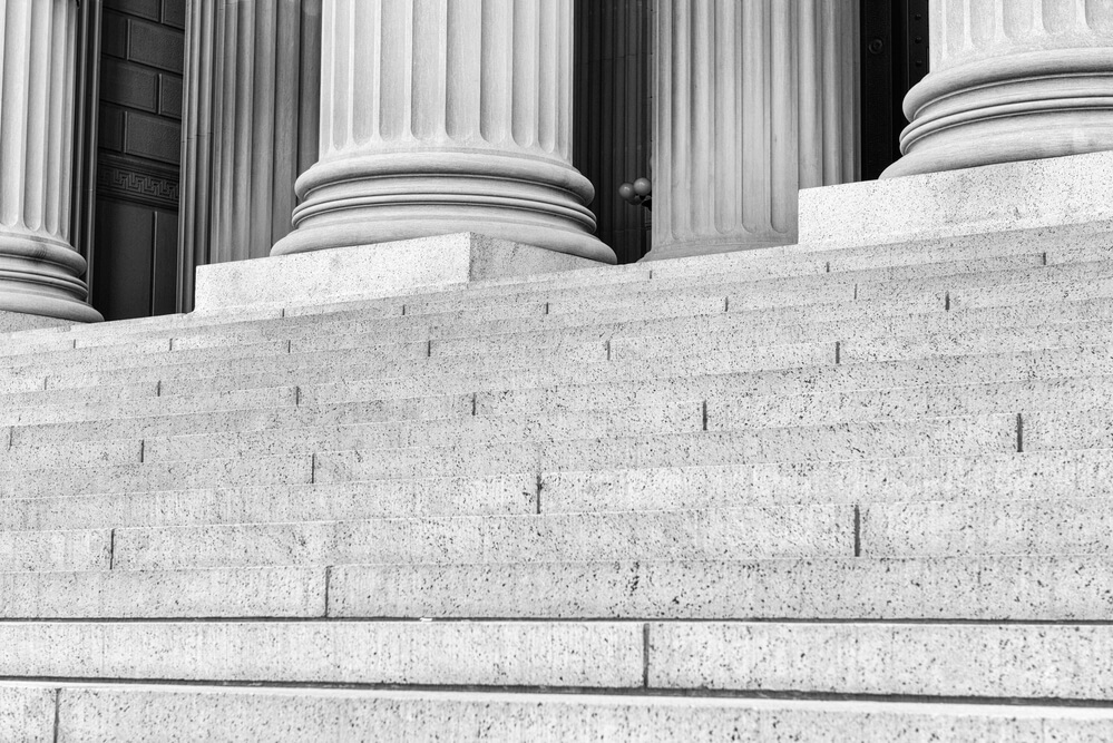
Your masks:
<instances>
[{"instance_id":1,"label":"large central fluted column including its rounded base, without plinth","mask_svg":"<svg viewBox=\"0 0 1113 743\"><path fill-rule=\"evenodd\" d=\"M596 261L572 0L325 0L321 159L272 255L476 232Z\"/></svg>"}]
</instances>

